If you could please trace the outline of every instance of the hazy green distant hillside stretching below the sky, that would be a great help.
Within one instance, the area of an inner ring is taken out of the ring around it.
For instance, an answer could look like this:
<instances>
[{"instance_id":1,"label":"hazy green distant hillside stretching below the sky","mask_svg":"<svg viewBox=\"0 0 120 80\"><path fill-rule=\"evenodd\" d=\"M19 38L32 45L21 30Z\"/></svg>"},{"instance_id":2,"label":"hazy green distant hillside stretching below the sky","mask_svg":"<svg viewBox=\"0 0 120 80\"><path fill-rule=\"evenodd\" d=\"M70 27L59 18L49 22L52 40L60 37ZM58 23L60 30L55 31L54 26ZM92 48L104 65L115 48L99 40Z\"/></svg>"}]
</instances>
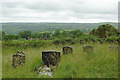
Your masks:
<instances>
[{"instance_id":1,"label":"hazy green distant hillside stretching below the sky","mask_svg":"<svg viewBox=\"0 0 120 80\"><path fill-rule=\"evenodd\" d=\"M89 33L92 29L102 24L110 24L118 28L117 23L2 23L2 30L7 34L17 34L20 31L29 30L34 32L53 32L60 30L80 29L84 33Z\"/></svg>"}]
</instances>

